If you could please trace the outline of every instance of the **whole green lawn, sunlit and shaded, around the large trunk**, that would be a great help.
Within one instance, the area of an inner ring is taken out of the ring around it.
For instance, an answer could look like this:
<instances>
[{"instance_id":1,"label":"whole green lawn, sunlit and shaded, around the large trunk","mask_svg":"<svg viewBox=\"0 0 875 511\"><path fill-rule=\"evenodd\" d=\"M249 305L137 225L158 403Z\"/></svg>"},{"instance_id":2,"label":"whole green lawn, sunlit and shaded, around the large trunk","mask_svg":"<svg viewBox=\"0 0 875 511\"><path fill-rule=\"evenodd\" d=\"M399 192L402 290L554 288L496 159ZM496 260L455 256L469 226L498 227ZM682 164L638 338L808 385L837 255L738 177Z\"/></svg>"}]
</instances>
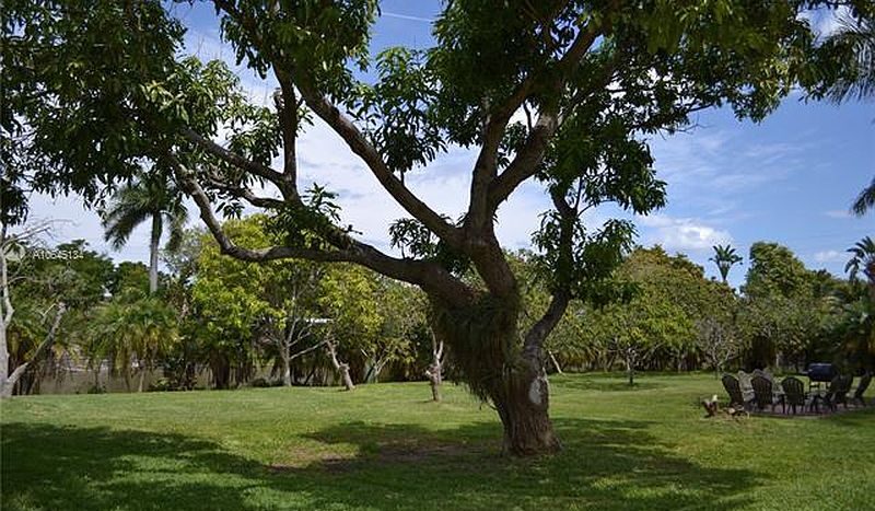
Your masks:
<instances>
[{"instance_id":1,"label":"whole green lawn, sunlit and shaded, around the large trunk","mask_svg":"<svg viewBox=\"0 0 875 511\"><path fill-rule=\"evenodd\" d=\"M552 457L500 454L446 385L34 396L2 404L2 508L875 509L875 407L702 418L710 375L553 378ZM870 396L872 392L870 392Z\"/></svg>"}]
</instances>

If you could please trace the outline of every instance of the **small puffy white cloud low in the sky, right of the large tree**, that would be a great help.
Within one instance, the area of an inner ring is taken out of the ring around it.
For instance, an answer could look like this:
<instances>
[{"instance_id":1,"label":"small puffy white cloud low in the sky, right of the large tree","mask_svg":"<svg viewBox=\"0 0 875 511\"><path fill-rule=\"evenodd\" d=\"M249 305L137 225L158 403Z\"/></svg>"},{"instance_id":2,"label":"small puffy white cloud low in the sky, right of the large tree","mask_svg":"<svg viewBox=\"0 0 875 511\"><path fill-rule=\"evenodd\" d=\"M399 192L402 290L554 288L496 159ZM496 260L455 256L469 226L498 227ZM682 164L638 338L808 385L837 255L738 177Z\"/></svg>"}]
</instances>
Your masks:
<instances>
[{"instance_id":1,"label":"small puffy white cloud low in the sky, right of the large tree","mask_svg":"<svg viewBox=\"0 0 875 511\"><path fill-rule=\"evenodd\" d=\"M698 219L672 218L667 214L637 217L645 245L658 243L669 252L709 251L719 244L732 244L732 235L707 225Z\"/></svg>"}]
</instances>

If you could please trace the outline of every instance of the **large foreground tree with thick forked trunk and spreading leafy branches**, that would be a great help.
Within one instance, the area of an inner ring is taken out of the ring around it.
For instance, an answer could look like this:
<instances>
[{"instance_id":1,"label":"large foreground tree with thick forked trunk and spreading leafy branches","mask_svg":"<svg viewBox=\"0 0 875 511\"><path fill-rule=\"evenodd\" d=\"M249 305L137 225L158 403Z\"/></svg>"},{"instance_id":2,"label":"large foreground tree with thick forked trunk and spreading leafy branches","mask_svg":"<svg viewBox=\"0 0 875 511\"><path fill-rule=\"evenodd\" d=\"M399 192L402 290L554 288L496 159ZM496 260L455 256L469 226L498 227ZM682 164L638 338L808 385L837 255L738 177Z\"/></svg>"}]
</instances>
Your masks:
<instances>
[{"instance_id":1,"label":"large foreground tree with thick forked trunk and spreading leafy branches","mask_svg":"<svg viewBox=\"0 0 875 511\"><path fill-rule=\"evenodd\" d=\"M837 2L453 1L434 22L433 48L376 59L374 0L212 3L237 59L279 85L272 106L247 103L220 62L177 59L183 28L158 0L88 10L9 2L4 101L18 117L3 127L28 149L19 159L33 163L28 183L93 199L152 160L174 170L230 256L348 262L419 286L455 365L498 410L506 450L534 454L559 448L545 339L572 298L609 291L632 235L625 221L585 225L583 212L611 201L642 214L660 207L646 135L721 104L767 115L810 63L816 39L800 13ZM849 3L872 15L867 0ZM360 240L324 208L324 194L299 188L296 141L313 116L419 228L397 240L404 257ZM476 154L462 217L425 204L404 178L452 146ZM518 332L520 289L495 221L530 181L552 204L534 235L551 301ZM264 209L282 243L235 244L217 212L243 204ZM459 278L466 265L482 288Z\"/></svg>"}]
</instances>

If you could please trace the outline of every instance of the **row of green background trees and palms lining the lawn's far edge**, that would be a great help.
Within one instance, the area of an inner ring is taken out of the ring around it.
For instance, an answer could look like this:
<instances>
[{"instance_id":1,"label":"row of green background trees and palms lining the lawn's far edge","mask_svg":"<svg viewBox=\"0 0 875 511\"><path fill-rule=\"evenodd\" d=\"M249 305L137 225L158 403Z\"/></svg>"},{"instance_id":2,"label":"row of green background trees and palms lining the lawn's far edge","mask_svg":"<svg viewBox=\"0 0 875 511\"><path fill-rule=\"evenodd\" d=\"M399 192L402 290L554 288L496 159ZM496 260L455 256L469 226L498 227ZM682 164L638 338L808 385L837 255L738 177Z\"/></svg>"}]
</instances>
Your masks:
<instances>
[{"instance_id":1,"label":"row of green background trees and palms lining the lawn's far edge","mask_svg":"<svg viewBox=\"0 0 875 511\"><path fill-rule=\"evenodd\" d=\"M229 220L224 229L248 246L275 235L258 214ZM107 228L110 239L118 232ZM25 253L39 246L34 241ZM779 244L755 243L738 291L725 276L740 257L728 246L714 249L720 280L658 245L632 249L611 276L617 298L600 305L572 301L548 338L551 370L623 370L632 383L635 371L792 371L813 361L873 369L871 239L849 249L848 279L805 268ZM200 385L214 388L335 382L352 388L432 379L435 368L457 375L452 350L444 360L441 342L439 355L424 294L362 267L246 263L221 255L196 229L171 236L161 272L116 264L81 240L52 251L77 257L9 262L16 313L8 332L10 372L40 349L51 311L65 306L55 341L24 372L16 393L39 393L40 382L74 368L93 373L92 392L105 388L106 374L124 379L129 391L148 390L148 373L152 390L191 390L199 375ZM548 306L549 292L532 253L508 258L523 284L518 322L528 327ZM474 272L464 278L482 286Z\"/></svg>"}]
</instances>

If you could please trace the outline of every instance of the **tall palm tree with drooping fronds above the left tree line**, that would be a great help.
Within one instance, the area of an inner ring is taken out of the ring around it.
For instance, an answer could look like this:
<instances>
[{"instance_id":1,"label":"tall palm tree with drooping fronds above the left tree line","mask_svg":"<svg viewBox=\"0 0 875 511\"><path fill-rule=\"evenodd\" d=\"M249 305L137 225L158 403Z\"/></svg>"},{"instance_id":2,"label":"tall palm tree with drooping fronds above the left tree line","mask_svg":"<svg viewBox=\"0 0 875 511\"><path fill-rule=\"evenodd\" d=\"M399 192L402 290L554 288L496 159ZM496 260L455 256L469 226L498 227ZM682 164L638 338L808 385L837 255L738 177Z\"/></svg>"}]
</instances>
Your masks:
<instances>
[{"instance_id":1,"label":"tall palm tree with drooping fronds above the left tree line","mask_svg":"<svg viewBox=\"0 0 875 511\"><path fill-rule=\"evenodd\" d=\"M149 243L149 292L158 290L158 256L164 222L170 227L167 249L174 251L183 240L188 211L183 204L184 195L173 181L142 174L137 181L121 186L110 199L109 207L102 212L104 237L119 249L130 233L147 220L152 221Z\"/></svg>"}]
</instances>

